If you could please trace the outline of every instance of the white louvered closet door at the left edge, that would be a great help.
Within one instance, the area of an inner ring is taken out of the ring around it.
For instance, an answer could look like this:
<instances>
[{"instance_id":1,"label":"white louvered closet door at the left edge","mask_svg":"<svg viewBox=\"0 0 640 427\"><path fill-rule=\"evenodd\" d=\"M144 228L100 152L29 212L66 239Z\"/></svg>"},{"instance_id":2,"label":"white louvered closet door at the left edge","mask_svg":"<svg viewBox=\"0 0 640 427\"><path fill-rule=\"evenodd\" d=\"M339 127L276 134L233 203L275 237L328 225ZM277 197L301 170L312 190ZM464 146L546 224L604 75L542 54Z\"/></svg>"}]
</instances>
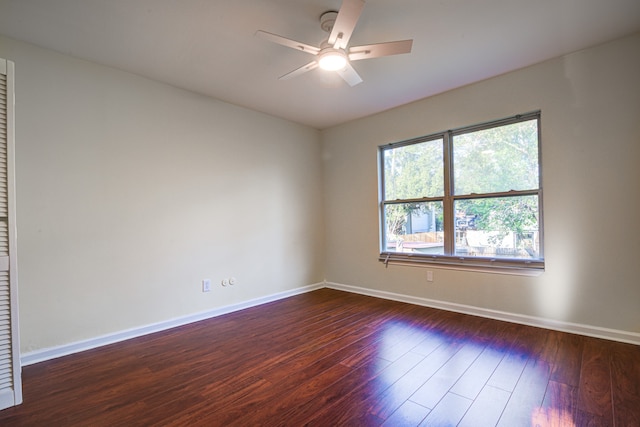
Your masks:
<instances>
[{"instance_id":1,"label":"white louvered closet door at the left edge","mask_svg":"<svg viewBox=\"0 0 640 427\"><path fill-rule=\"evenodd\" d=\"M13 63L0 59L0 409L22 402L15 259L13 111Z\"/></svg>"}]
</instances>

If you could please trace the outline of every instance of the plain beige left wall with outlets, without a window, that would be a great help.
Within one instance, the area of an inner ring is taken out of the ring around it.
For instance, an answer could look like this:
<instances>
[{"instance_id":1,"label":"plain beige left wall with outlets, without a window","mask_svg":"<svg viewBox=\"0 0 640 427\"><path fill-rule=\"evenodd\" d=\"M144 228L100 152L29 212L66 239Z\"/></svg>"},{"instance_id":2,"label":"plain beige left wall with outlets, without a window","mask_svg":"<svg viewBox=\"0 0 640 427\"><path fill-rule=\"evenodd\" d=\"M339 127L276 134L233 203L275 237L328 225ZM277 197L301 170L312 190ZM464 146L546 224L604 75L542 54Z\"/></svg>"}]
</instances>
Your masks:
<instances>
[{"instance_id":1,"label":"plain beige left wall with outlets, without a window","mask_svg":"<svg viewBox=\"0 0 640 427\"><path fill-rule=\"evenodd\" d=\"M6 38L0 57L23 352L323 280L317 131Z\"/></svg>"}]
</instances>

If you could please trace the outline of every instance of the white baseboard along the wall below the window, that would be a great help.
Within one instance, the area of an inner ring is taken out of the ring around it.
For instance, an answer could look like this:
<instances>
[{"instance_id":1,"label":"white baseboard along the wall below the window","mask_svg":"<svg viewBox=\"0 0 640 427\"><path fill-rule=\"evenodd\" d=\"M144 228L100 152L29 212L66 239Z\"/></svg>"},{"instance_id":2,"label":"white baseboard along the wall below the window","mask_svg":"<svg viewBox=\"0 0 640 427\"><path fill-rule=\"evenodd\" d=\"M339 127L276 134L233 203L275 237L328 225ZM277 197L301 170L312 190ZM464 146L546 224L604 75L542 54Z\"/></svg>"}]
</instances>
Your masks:
<instances>
[{"instance_id":1,"label":"white baseboard along the wall below the window","mask_svg":"<svg viewBox=\"0 0 640 427\"><path fill-rule=\"evenodd\" d=\"M620 331L617 329L601 328L599 326L582 325L578 323L563 322L542 317L527 316L517 313L508 313L498 310L474 307L464 304L456 304L446 301L432 300L428 298L414 297L393 292L378 291L375 289L360 288L357 286L343 285L339 283L325 283L327 288L352 292L356 294L368 295L393 301L406 302L409 304L421 305L425 307L437 308L457 313L470 314L473 316L486 317L489 319L502 320L511 323L536 326L539 328L552 329L556 331L569 332L589 337L603 338L612 341L620 341L629 344L640 345L640 334L636 332Z\"/></svg>"}]
</instances>

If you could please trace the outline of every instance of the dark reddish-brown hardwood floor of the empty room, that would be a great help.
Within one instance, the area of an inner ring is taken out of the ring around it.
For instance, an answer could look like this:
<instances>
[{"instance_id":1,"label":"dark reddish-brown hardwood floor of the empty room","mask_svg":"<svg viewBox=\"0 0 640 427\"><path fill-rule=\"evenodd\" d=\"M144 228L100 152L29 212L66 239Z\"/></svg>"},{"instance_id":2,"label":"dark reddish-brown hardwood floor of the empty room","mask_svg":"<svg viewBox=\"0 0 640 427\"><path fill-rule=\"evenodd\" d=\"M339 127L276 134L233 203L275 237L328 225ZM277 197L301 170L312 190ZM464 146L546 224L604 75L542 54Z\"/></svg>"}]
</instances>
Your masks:
<instances>
[{"instance_id":1,"label":"dark reddish-brown hardwood floor of the empty room","mask_svg":"<svg viewBox=\"0 0 640 427\"><path fill-rule=\"evenodd\" d=\"M2 426L640 426L640 347L330 289L27 366Z\"/></svg>"}]
</instances>

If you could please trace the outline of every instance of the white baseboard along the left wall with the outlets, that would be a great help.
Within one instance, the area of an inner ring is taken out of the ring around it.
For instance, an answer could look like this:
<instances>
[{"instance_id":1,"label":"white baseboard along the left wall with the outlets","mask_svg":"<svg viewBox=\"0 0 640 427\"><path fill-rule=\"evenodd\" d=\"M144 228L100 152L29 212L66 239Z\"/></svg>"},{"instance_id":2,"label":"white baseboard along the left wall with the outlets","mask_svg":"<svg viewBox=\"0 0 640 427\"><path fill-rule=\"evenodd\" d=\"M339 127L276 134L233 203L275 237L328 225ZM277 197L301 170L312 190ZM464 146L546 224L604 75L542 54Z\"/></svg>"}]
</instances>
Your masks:
<instances>
[{"instance_id":1,"label":"white baseboard along the left wall with the outlets","mask_svg":"<svg viewBox=\"0 0 640 427\"><path fill-rule=\"evenodd\" d=\"M120 341L140 337L147 334L152 334L154 332L164 331L167 329L175 328L177 326L198 322L200 320L210 319L212 317L221 316L223 314L232 313L234 311L244 310L245 308L255 307L261 304L266 304L268 302L277 301L277 300L288 298L294 295L311 292L316 289L321 289L323 287L325 287L324 283L317 283L314 285L292 289L290 291L279 292L276 294L255 298L255 299L244 301L237 304L219 307L219 308L201 312L201 313L191 314L188 316L178 317L178 318L167 320L164 322L141 326L139 328L133 328L125 331L115 332L112 334L102 335L100 337L91 338L84 341L77 341L74 343L65 344L57 347L36 350L36 351L22 354L20 357L20 361L22 366L32 365L34 363L44 362L45 360L51 360L58 357L67 356L73 353L79 353L81 351L91 350L93 348L117 343Z\"/></svg>"}]
</instances>

